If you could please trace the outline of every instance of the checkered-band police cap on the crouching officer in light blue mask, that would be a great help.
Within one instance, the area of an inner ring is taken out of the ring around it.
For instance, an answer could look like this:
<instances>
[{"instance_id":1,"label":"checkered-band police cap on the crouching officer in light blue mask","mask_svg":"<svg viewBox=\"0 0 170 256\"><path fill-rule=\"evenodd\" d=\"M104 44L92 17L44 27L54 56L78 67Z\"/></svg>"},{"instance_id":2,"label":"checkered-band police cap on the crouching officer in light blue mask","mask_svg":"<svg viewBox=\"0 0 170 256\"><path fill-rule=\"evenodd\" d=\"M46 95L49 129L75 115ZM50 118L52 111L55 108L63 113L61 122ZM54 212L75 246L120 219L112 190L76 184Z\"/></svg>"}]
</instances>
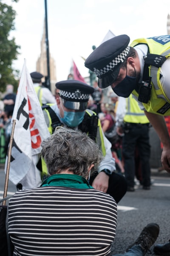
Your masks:
<instances>
[{"instance_id":1,"label":"checkered-band police cap on the crouching officer in light blue mask","mask_svg":"<svg viewBox=\"0 0 170 256\"><path fill-rule=\"evenodd\" d=\"M89 96L94 92L90 85L74 79L59 81L56 88L65 108L80 111L87 108Z\"/></svg>"}]
</instances>

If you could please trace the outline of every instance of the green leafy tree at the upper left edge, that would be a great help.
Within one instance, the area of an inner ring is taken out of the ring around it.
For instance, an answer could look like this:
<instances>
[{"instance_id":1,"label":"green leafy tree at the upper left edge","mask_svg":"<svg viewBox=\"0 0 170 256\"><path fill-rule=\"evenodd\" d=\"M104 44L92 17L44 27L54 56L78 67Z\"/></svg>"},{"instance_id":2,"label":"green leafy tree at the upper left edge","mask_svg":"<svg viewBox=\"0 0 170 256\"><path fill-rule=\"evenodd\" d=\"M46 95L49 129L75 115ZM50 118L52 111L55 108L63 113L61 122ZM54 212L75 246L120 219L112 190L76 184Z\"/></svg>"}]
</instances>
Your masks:
<instances>
[{"instance_id":1,"label":"green leafy tree at the upper left edge","mask_svg":"<svg viewBox=\"0 0 170 256\"><path fill-rule=\"evenodd\" d=\"M18 2L18 0L13 0ZM20 46L15 44L15 38L9 38L10 31L14 30L16 12L12 6L2 3L0 0L0 91L4 92L6 84L18 86L19 71L12 68L12 61L17 59Z\"/></svg>"}]
</instances>

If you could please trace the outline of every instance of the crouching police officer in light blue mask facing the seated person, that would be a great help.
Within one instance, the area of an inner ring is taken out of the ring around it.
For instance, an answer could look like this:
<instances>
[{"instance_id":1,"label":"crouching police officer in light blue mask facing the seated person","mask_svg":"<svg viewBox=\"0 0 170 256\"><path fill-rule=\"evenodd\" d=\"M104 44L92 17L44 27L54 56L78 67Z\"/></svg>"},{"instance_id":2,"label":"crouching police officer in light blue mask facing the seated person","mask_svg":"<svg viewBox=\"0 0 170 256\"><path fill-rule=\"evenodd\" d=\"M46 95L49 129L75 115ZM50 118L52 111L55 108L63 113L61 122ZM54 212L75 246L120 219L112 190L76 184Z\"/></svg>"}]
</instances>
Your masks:
<instances>
[{"instance_id":1,"label":"crouching police officer in light blue mask facing the seated person","mask_svg":"<svg viewBox=\"0 0 170 256\"><path fill-rule=\"evenodd\" d=\"M99 144L105 158L98 172L90 177L89 183L95 189L110 194L118 203L127 191L127 183L122 175L114 172L116 168L111 143L103 134L98 116L87 109L88 99L94 88L77 80L59 81L56 87L59 89L57 104L42 106L50 133L53 133L55 127L64 125L87 133Z\"/></svg>"}]
</instances>

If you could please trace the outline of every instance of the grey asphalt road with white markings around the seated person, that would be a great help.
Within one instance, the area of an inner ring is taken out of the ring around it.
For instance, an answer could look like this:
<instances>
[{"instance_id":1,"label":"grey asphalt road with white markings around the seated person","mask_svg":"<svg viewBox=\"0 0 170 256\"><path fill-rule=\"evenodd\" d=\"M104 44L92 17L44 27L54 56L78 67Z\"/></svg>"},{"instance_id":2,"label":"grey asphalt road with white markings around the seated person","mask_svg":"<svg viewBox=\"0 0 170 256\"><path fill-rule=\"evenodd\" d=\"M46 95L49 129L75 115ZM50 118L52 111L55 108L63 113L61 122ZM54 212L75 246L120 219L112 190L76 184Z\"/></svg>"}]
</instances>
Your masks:
<instances>
[{"instance_id":1,"label":"grey asphalt road with white markings around the seated person","mask_svg":"<svg viewBox=\"0 0 170 256\"><path fill-rule=\"evenodd\" d=\"M156 243L165 243L170 239L170 174L151 169L153 185L150 190L143 190L136 185L135 192L127 192L118 204L116 237L111 254L123 253L149 223L160 226ZM4 168L0 166L0 196L2 198L5 182ZM8 195L16 191L11 181L8 183ZM153 247L151 247L151 255ZM147 254L148 256L150 254Z\"/></svg>"}]
</instances>

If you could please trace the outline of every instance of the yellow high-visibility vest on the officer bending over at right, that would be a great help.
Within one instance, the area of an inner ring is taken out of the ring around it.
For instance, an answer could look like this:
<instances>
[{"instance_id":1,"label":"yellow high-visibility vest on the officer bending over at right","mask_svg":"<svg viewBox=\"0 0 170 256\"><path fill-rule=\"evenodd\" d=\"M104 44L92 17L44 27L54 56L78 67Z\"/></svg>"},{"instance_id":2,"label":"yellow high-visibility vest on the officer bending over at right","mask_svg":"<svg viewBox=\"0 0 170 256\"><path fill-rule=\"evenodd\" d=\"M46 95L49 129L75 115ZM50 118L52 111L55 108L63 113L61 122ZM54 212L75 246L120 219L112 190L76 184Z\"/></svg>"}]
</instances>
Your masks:
<instances>
[{"instance_id":1,"label":"yellow high-visibility vest on the officer bending over at right","mask_svg":"<svg viewBox=\"0 0 170 256\"><path fill-rule=\"evenodd\" d=\"M170 57L170 35L156 36L153 38L139 38L132 42L131 47L138 44L146 44L149 47L149 52L153 54L163 55L166 58ZM165 95L160 83L161 67L149 66L149 76L152 76L152 89L150 100L147 103L142 103L147 112L156 113L163 116L170 115L170 100ZM132 92L135 96L139 96L136 90Z\"/></svg>"}]
</instances>

